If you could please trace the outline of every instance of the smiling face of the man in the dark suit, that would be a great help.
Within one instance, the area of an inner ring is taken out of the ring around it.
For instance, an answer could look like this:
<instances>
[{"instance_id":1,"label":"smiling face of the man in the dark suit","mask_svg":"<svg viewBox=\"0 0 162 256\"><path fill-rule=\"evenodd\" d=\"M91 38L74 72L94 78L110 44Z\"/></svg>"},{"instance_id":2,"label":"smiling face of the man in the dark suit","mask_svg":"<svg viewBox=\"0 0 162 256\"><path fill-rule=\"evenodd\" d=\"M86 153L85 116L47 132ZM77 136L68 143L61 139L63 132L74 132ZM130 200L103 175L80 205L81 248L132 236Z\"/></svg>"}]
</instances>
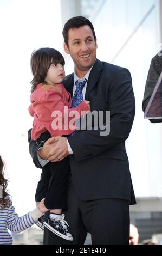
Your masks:
<instances>
[{"instance_id":1,"label":"smiling face of the man in the dark suit","mask_svg":"<svg viewBox=\"0 0 162 256\"><path fill-rule=\"evenodd\" d=\"M68 32L68 46L64 44L64 51L73 59L76 74L88 71L96 59L98 47L92 30L88 25L79 28L70 28Z\"/></svg>"}]
</instances>

